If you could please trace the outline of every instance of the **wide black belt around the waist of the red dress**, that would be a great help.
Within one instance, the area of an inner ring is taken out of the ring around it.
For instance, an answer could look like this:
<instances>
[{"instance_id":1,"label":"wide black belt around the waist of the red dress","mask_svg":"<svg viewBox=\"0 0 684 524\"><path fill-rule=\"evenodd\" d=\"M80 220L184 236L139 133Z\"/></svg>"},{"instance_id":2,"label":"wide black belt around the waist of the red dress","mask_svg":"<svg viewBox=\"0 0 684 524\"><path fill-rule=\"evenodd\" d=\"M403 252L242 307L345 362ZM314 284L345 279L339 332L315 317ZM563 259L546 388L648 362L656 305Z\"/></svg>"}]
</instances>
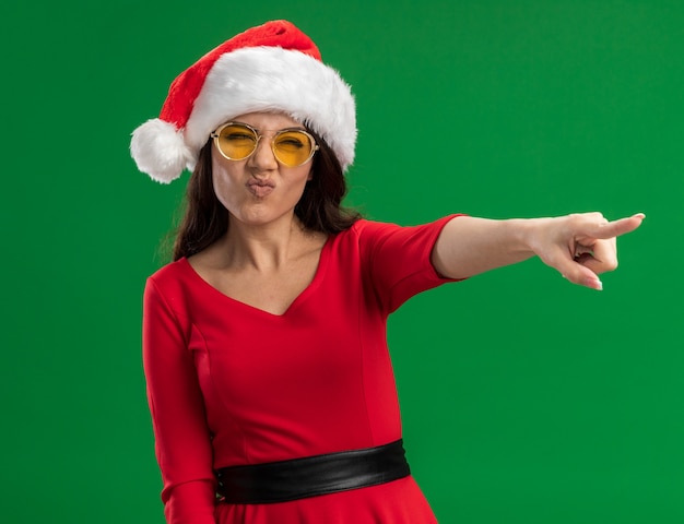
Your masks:
<instances>
[{"instance_id":1,"label":"wide black belt around the waist of the red dress","mask_svg":"<svg viewBox=\"0 0 684 524\"><path fill-rule=\"evenodd\" d=\"M411 474L402 440L365 450L223 467L219 495L233 504L263 504L390 483Z\"/></svg>"}]
</instances>

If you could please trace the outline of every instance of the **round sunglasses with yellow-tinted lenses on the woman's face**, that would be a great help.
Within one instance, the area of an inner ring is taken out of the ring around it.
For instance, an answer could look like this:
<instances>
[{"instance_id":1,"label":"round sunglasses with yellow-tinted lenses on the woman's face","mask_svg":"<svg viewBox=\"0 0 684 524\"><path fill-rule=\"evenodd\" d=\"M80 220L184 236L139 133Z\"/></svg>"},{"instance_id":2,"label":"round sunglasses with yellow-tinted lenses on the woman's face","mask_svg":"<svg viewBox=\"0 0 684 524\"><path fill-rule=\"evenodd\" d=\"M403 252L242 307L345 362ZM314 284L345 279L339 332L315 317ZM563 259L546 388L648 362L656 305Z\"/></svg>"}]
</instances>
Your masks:
<instances>
[{"instance_id":1,"label":"round sunglasses with yellow-tinted lenses on the woman's face","mask_svg":"<svg viewBox=\"0 0 684 524\"><path fill-rule=\"evenodd\" d=\"M228 160L249 158L262 135L251 126L240 122L227 122L211 133L219 152ZM318 144L303 129L291 128L278 131L271 139L273 156L283 166L297 167L311 159Z\"/></svg>"}]
</instances>

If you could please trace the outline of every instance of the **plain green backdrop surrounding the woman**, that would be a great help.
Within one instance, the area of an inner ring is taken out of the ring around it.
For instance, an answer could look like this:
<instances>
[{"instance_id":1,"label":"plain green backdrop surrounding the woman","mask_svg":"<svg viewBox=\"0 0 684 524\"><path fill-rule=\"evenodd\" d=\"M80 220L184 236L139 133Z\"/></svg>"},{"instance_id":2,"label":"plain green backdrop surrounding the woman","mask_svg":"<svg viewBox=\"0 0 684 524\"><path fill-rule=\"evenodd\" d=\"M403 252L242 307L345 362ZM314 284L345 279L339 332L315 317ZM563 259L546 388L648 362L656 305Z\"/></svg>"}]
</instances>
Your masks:
<instances>
[{"instance_id":1,"label":"plain green backdrop surrounding the woman","mask_svg":"<svg viewBox=\"0 0 684 524\"><path fill-rule=\"evenodd\" d=\"M187 175L150 181L129 135L182 69L279 17L353 86L349 203L367 216L647 214L602 293L532 260L392 318L409 458L440 522L684 522L672 0L4 2L2 522L163 522L141 293Z\"/></svg>"}]
</instances>

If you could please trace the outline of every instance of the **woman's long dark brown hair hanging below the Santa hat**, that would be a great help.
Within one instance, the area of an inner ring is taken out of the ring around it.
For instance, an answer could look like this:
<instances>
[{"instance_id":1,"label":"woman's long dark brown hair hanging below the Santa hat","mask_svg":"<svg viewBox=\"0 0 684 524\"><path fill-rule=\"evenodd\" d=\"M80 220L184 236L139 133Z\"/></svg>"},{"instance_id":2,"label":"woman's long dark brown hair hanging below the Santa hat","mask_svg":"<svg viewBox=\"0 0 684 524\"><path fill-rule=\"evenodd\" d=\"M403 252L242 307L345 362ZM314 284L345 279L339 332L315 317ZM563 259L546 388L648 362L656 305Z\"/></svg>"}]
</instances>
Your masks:
<instances>
[{"instance_id":1,"label":"woman's long dark brown hair hanging below the Santa hat","mask_svg":"<svg viewBox=\"0 0 684 524\"><path fill-rule=\"evenodd\" d=\"M312 231L335 233L349 229L361 215L342 206L346 180L338 157L316 133L319 150L314 155L314 177L295 205L295 215ZM173 260L190 257L219 240L228 229L228 212L216 198L212 182L211 146L209 140L186 190L185 213L176 234Z\"/></svg>"}]
</instances>

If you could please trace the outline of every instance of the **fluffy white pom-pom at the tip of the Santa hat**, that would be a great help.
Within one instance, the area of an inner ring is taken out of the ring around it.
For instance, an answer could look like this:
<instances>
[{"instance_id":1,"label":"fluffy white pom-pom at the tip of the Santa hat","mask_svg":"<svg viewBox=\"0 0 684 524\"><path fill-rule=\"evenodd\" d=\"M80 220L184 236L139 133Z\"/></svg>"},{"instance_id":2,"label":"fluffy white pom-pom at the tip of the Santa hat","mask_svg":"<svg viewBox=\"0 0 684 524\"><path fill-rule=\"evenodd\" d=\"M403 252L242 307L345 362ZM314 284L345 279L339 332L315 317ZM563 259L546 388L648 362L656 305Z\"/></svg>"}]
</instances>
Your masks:
<instances>
[{"instance_id":1,"label":"fluffy white pom-pom at the tip of the Santa hat","mask_svg":"<svg viewBox=\"0 0 684 524\"><path fill-rule=\"evenodd\" d=\"M194 164L194 155L184 142L182 131L158 118L148 120L133 131L130 148L138 169L162 183L177 179L186 166Z\"/></svg>"}]
</instances>

